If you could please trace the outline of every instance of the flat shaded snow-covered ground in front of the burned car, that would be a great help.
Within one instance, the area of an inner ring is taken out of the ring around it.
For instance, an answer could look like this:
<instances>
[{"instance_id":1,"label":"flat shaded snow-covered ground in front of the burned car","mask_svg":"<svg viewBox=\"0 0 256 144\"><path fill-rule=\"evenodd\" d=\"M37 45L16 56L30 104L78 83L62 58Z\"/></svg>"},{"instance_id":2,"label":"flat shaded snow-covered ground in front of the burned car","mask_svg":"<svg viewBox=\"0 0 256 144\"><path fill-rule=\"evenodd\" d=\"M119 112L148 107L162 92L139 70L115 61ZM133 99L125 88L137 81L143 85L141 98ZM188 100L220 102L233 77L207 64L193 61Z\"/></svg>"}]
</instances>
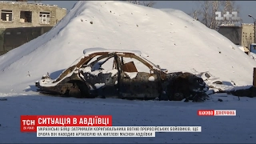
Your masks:
<instances>
[{"instance_id":1,"label":"flat shaded snow-covered ground in front of the burned car","mask_svg":"<svg viewBox=\"0 0 256 144\"><path fill-rule=\"evenodd\" d=\"M5 94L0 94L5 95ZM5 95L0 138L5 143L246 143L256 142L255 99L215 94L210 101L157 102ZM223 102L218 102L221 98ZM234 117L198 116L198 110L237 110ZM155 138L37 138L20 132L20 115L112 115L114 126L202 126L201 133L157 133Z\"/></svg>"}]
</instances>

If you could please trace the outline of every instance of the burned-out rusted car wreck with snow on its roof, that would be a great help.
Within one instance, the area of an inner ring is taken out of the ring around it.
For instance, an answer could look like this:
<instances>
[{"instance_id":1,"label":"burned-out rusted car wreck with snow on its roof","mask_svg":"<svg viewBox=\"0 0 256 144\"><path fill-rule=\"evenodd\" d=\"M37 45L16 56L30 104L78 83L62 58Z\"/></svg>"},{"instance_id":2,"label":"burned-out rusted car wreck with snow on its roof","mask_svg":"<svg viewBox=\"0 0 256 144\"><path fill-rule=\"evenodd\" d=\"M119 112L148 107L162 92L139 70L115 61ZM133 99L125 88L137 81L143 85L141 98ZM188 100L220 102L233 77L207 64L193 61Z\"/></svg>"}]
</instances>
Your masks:
<instances>
[{"instance_id":1,"label":"burned-out rusted car wreck with snow on its roof","mask_svg":"<svg viewBox=\"0 0 256 144\"><path fill-rule=\"evenodd\" d=\"M35 83L42 94L75 98L158 99L203 102L209 87L197 75L167 70L142 57L140 51L84 50L56 79L44 75Z\"/></svg>"}]
</instances>

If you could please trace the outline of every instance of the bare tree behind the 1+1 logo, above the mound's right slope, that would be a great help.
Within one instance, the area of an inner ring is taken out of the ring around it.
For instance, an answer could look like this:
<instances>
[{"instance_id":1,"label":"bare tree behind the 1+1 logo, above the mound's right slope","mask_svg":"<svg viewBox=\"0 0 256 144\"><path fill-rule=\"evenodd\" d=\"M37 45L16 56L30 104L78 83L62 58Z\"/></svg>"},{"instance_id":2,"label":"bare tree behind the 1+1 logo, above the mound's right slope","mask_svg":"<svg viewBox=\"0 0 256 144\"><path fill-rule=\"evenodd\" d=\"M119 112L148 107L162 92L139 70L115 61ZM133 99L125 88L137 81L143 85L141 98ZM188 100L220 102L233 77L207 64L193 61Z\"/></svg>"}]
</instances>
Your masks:
<instances>
[{"instance_id":1,"label":"bare tree behind the 1+1 logo, above the mound's right slope","mask_svg":"<svg viewBox=\"0 0 256 144\"><path fill-rule=\"evenodd\" d=\"M220 23L230 23L230 19L224 18L222 22L216 20L216 12L231 14L232 11L239 12L239 6L235 1L197 1L198 8L192 9L191 17L199 20L207 27L217 30Z\"/></svg>"}]
</instances>

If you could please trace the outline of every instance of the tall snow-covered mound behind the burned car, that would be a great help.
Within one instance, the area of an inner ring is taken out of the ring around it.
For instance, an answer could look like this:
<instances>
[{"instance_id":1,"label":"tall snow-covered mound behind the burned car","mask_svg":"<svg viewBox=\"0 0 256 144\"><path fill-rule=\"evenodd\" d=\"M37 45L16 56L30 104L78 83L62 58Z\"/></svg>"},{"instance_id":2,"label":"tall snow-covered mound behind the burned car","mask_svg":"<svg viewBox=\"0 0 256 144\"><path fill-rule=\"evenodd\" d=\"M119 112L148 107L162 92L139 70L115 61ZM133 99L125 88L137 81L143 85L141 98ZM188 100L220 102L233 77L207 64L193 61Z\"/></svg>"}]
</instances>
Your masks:
<instances>
[{"instance_id":1,"label":"tall snow-covered mound behind the burned car","mask_svg":"<svg viewBox=\"0 0 256 144\"><path fill-rule=\"evenodd\" d=\"M209 71L236 86L251 85L256 66L229 39L180 10L83 1L48 33L0 57L0 86L25 90L47 72L57 78L90 47L140 50L162 68Z\"/></svg>"}]
</instances>

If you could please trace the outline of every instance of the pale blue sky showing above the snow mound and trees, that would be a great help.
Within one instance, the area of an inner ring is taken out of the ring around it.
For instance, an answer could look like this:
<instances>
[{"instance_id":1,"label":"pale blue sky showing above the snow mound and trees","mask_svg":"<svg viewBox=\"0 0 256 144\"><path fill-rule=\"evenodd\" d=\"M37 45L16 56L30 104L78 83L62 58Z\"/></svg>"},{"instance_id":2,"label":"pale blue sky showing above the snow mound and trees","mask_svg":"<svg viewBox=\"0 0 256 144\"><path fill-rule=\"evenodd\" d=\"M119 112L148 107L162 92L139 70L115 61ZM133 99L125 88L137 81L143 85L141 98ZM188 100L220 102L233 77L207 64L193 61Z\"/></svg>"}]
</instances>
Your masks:
<instances>
[{"instance_id":1,"label":"pale blue sky showing above the snow mound and trees","mask_svg":"<svg viewBox=\"0 0 256 144\"><path fill-rule=\"evenodd\" d=\"M60 7L64 7L70 10L74 4L78 1L41 1L46 4L54 4ZM172 8L182 10L186 13L190 13L192 9L197 8L195 1L155 1L154 8ZM249 18L248 14L251 14L256 18L256 1L236 1L236 4L240 6L240 13L238 16L242 18L242 22L253 23L253 18Z\"/></svg>"}]
</instances>

